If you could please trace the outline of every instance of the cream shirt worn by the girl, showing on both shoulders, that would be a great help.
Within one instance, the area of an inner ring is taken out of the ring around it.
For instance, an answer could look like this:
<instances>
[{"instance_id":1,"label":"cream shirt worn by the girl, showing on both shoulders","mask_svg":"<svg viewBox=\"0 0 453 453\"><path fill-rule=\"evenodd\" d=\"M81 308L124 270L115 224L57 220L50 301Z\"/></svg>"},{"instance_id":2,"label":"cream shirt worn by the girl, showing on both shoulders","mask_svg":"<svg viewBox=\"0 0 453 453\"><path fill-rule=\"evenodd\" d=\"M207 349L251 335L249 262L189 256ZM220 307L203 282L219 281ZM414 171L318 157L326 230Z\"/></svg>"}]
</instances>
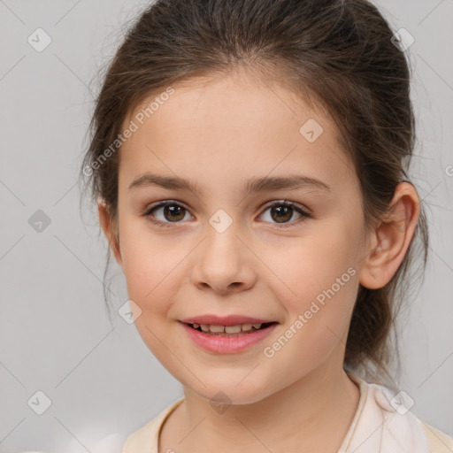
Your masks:
<instances>
[{"instance_id":1,"label":"cream shirt worn by the girl, showing on both shoulders","mask_svg":"<svg viewBox=\"0 0 453 453\"><path fill-rule=\"evenodd\" d=\"M420 421L392 397L388 388L370 384L349 372L360 388L357 411L338 453L452 453L453 438ZM165 419L184 401L180 398L130 434L122 453L158 452Z\"/></svg>"}]
</instances>

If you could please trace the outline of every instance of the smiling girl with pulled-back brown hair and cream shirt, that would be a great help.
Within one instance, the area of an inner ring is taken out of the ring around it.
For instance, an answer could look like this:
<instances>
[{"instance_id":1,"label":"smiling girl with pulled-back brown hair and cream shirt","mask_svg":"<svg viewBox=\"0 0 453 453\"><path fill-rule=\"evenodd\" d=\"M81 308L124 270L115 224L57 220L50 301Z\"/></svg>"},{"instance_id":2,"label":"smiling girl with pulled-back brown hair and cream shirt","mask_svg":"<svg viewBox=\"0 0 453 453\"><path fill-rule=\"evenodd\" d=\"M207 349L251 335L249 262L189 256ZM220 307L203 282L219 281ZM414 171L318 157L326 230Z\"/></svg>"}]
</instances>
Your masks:
<instances>
[{"instance_id":1,"label":"smiling girl with pulled-back brown hair and cream shirt","mask_svg":"<svg viewBox=\"0 0 453 453\"><path fill-rule=\"evenodd\" d=\"M383 385L427 250L400 44L366 0L158 0L128 32L82 171L184 397L123 453L453 451Z\"/></svg>"}]
</instances>

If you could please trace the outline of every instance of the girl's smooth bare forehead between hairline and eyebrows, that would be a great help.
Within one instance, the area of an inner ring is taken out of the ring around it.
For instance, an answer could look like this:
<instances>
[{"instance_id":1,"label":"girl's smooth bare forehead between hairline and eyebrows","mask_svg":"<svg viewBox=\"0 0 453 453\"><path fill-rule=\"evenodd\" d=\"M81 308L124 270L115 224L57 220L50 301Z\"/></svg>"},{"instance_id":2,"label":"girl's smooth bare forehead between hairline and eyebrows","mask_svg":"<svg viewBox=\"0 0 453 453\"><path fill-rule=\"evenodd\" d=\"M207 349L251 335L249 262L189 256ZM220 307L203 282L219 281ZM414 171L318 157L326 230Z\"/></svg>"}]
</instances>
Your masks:
<instances>
[{"instance_id":1,"label":"girl's smooth bare forehead between hairline and eyebrows","mask_svg":"<svg viewBox=\"0 0 453 453\"><path fill-rule=\"evenodd\" d=\"M270 80L236 73L171 88L146 98L123 125L136 127L120 150L128 180L157 167L212 182L288 171L332 186L355 177L334 122Z\"/></svg>"}]
</instances>

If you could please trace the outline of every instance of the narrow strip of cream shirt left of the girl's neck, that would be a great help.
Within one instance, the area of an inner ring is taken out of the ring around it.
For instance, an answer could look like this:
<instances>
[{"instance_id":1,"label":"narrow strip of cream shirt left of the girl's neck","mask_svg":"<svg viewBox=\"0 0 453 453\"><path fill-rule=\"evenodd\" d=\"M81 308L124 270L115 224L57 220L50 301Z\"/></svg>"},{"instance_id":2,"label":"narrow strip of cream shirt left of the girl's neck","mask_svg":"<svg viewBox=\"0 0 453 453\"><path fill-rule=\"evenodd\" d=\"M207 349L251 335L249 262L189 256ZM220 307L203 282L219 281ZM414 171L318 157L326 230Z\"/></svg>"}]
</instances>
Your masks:
<instances>
[{"instance_id":1,"label":"narrow strip of cream shirt left of the girl's neck","mask_svg":"<svg viewBox=\"0 0 453 453\"><path fill-rule=\"evenodd\" d=\"M160 428L163 426L165 419L176 407L184 401L180 398L152 418L141 428L129 434L123 445L122 453L157 453L157 441Z\"/></svg>"}]
</instances>

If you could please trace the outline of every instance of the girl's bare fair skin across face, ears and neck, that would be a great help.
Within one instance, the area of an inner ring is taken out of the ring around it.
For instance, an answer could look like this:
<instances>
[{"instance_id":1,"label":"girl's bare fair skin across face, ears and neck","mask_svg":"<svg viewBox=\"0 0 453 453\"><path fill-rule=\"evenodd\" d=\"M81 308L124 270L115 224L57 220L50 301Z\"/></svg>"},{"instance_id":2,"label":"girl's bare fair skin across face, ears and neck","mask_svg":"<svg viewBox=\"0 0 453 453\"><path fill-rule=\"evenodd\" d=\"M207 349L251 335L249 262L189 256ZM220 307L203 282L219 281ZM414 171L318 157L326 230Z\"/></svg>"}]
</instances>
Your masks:
<instances>
[{"instance_id":1,"label":"girl's bare fair skin across face, ears and neck","mask_svg":"<svg viewBox=\"0 0 453 453\"><path fill-rule=\"evenodd\" d=\"M99 203L129 298L142 311L135 326L184 389L185 401L159 436L159 452L223 453L239 446L248 452L334 453L359 398L343 370L358 286L383 287L401 264L418 221L417 192L401 183L390 214L367 230L357 175L331 119L245 73L173 88L120 150L118 223ZM324 129L315 142L299 133L308 119ZM203 192L128 189L147 172L194 181ZM250 178L294 174L329 189L242 192ZM159 228L144 213L165 200L185 210L172 221L175 214L165 217L157 208L154 219L168 226ZM279 229L269 202L282 200L310 217L293 209L287 227ZM209 223L219 209L233 220L222 234ZM349 268L355 270L349 281L283 348L265 357L265 346ZM205 313L279 325L250 349L216 354L191 342L179 322ZM223 413L210 402L219 391L232 403Z\"/></svg>"}]
</instances>

